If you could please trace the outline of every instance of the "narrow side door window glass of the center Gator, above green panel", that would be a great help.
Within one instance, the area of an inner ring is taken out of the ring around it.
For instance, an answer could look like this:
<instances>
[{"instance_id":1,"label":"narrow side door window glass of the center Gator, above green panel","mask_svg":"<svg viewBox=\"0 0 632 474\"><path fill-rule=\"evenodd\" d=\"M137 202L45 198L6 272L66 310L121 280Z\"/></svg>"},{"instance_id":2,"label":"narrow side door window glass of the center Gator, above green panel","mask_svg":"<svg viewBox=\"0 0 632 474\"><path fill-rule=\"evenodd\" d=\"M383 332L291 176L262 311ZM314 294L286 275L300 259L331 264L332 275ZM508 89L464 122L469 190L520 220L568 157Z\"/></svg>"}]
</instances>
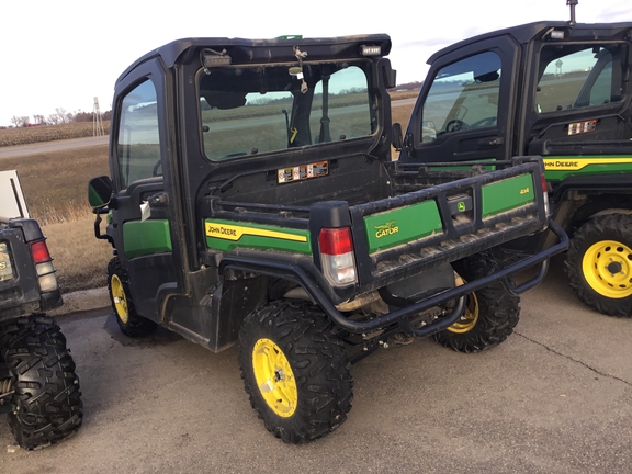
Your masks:
<instances>
[{"instance_id":1,"label":"narrow side door window glass of the center Gator, above green panel","mask_svg":"<svg viewBox=\"0 0 632 474\"><path fill-rule=\"evenodd\" d=\"M123 99L117 155L121 189L162 173L156 89L150 80Z\"/></svg>"}]
</instances>

